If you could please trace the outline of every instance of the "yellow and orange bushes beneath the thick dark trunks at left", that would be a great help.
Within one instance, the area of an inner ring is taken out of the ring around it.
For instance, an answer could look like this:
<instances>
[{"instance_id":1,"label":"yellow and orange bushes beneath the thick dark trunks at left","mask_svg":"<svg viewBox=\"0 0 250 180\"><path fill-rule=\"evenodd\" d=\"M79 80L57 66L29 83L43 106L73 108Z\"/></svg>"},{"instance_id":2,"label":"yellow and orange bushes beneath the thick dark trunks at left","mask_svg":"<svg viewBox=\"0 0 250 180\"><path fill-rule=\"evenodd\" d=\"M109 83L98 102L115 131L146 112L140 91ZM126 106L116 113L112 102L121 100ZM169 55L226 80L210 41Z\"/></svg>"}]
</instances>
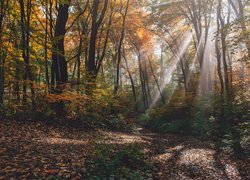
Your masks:
<instances>
[{"instance_id":1,"label":"yellow and orange bushes beneath the thick dark trunks at left","mask_svg":"<svg viewBox=\"0 0 250 180\"><path fill-rule=\"evenodd\" d=\"M61 94L45 94L37 89L34 104L27 98L24 106L22 100L6 101L0 108L0 116L20 120L62 122L84 128L105 128L112 130L130 130L126 121L127 105L131 102L127 94L113 94L113 90L97 87L93 95L86 95L84 89L77 92L66 86Z\"/></svg>"}]
</instances>

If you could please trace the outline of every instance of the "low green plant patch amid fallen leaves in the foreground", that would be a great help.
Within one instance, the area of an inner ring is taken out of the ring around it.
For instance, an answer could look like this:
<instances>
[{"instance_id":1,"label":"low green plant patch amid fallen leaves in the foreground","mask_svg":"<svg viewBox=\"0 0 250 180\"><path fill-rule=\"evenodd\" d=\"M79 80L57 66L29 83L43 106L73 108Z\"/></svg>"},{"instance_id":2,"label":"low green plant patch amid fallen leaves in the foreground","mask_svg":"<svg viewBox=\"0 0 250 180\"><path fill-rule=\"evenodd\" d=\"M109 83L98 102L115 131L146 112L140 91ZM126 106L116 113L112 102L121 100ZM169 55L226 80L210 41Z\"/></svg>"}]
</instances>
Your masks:
<instances>
[{"instance_id":1,"label":"low green plant patch amid fallen leaves in the foreground","mask_svg":"<svg viewBox=\"0 0 250 180\"><path fill-rule=\"evenodd\" d=\"M137 144L97 144L85 161L86 179L148 179L151 167Z\"/></svg>"}]
</instances>

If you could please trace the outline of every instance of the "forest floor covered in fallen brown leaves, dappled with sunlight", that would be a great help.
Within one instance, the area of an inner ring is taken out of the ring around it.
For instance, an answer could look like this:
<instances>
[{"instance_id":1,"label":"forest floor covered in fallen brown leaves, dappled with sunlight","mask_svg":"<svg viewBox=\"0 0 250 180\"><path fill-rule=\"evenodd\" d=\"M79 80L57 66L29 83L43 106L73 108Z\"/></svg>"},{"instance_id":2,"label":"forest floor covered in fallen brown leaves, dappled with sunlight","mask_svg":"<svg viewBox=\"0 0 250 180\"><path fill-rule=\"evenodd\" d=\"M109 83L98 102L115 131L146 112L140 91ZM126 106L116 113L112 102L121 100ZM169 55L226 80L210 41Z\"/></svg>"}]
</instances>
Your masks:
<instances>
[{"instance_id":1,"label":"forest floor covered in fallen brown leaves, dappled with sunlight","mask_svg":"<svg viewBox=\"0 0 250 180\"><path fill-rule=\"evenodd\" d=\"M93 143L139 143L154 179L250 179L249 160L237 160L209 141L157 134L85 131L29 121L0 121L0 179L80 179Z\"/></svg>"}]
</instances>

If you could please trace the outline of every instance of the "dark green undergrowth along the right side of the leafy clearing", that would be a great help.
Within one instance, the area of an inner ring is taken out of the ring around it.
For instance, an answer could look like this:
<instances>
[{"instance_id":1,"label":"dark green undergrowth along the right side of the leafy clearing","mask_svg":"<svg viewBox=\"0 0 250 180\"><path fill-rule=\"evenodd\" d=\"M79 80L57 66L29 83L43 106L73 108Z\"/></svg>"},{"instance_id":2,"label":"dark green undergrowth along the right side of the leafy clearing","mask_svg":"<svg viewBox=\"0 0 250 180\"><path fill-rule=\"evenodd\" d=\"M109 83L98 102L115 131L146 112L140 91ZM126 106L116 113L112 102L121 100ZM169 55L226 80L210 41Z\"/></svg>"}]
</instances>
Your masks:
<instances>
[{"instance_id":1,"label":"dark green undergrowth along the right side of the leafy clearing","mask_svg":"<svg viewBox=\"0 0 250 180\"><path fill-rule=\"evenodd\" d=\"M220 98L202 97L195 104L166 105L145 112L139 124L156 132L193 135L211 139L233 149L237 156L250 155L248 106L241 101L230 104Z\"/></svg>"}]
</instances>

